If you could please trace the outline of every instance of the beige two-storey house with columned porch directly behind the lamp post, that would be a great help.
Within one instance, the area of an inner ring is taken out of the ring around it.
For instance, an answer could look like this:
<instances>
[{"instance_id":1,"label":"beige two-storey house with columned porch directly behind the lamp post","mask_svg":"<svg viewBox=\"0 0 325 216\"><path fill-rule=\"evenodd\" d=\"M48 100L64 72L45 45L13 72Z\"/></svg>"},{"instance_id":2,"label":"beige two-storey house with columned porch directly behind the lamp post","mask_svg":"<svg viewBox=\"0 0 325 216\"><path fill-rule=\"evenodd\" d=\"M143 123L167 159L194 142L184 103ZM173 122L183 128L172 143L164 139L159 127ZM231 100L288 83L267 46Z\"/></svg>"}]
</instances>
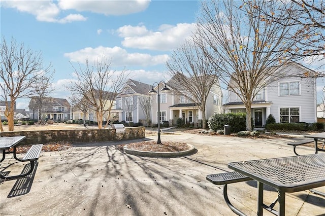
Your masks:
<instances>
[{"instance_id":1,"label":"beige two-storey house with columned porch directly behind the lamp post","mask_svg":"<svg viewBox=\"0 0 325 216\"><path fill-rule=\"evenodd\" d=\"M178 86L178 90L183 93L176 93L168 85L173 82L172 78L166 83L167 87L171 90L170 92L159 92L160 115L158 115L158 95L153 97L152 123L157 124L158 122L163 123L164 121L168 121L169 125L176 125L177 119L182 118L185 123L192 124L194 127L202 127L202 111L198 106L200 101L194 101L195 99L190 93L186 92L185 88L180 85ZM164 86L159 87L159 89L161 88L164 88ZM158 92L158 86L154 90ZM206 119L209 119L216 113L222 113L222 91L218 81L212 86L208 94L205 107Z\"/></svg>"}]
</instances>

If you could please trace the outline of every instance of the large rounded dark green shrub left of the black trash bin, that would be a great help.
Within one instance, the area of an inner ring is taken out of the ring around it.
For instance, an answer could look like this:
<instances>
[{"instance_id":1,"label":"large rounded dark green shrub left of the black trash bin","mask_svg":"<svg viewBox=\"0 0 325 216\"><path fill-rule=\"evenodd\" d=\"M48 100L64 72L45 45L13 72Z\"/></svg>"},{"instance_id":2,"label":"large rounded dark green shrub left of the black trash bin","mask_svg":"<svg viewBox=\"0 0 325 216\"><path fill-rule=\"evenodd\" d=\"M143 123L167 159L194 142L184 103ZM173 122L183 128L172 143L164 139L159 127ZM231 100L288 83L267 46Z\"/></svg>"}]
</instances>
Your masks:
<instances>
[{"instance_id":1,"label":"large rounded dark green shrub left of the black trash bin","mask_svg":"<svg viewBox=\"0 0 325 216\"><path fill-rule=\"evenodd\" d=\"M231 132L246 130L246 113L215 114L208 120L208 126L214 132L222 130L224 125L230 125Z\"/></svg>"}]
</instances>

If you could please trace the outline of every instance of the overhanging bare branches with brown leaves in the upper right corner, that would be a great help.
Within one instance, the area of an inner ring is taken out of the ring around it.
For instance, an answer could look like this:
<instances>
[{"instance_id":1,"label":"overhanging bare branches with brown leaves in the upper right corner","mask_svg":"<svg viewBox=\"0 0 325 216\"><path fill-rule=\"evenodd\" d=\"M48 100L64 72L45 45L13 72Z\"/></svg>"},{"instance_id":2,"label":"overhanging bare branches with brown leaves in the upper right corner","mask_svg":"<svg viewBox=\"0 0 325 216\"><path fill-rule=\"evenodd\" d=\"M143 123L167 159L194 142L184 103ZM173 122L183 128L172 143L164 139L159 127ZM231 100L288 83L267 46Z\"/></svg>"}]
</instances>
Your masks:
<instances>
[{"instance_id":1,"label":"overhanging bare branches with brown leaves in the upper right corner","mask_svg":"<svg viewBox=\"0 0 325 216\"><path fill-rule=\"evenodd\" d=\"M250 1L245 1L251 4ZM277 11L271 12L266 8L258 8L259 14L268 22L277 22L290 26L287 38L295 43L288 52L296 57L306 56L325 57L325 1L290 0L276 1ZM284 13L283 13L284 12Z\"/></svg>"}]
</instances>

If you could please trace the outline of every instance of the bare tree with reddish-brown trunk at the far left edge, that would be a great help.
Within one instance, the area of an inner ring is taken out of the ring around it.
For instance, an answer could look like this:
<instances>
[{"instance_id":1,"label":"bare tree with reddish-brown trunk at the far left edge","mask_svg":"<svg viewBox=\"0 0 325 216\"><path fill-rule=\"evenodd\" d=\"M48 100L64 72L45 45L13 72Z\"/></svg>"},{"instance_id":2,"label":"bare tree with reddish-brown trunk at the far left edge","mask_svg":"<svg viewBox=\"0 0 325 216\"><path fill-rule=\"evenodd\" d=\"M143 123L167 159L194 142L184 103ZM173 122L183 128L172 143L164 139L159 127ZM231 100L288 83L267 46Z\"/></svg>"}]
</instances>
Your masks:
<instances>
[{"instance_id":1,"label":"bare tree with reddish-brown trunk at the far left edge","mask_svg":"<svg viewBox=\"0 0 325 216\"><path fill-rule=\"evenodd\" d=\"M8 130L13 131L16 100L35 94L33 87L42 80L42 75L50 73L51 65L43 67L41 52L35 53L14 39L10 43L7 43L5 38L2 39L0 54L0 88L3 90L1 96L6 101Z\"/></svg>"}]
</instances>

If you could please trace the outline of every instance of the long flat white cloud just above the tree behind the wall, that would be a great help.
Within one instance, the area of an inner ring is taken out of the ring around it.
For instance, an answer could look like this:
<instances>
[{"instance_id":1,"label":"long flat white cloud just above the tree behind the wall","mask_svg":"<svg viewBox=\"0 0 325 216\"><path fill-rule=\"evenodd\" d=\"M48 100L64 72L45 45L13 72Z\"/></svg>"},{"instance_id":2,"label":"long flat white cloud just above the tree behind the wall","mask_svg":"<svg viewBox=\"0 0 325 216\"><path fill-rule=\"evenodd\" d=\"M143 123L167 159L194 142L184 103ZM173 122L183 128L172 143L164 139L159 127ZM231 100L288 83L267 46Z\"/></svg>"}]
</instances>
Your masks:
<instances>
[{"instance_id":1,"label":"long flat white cloud just above the tree behind the wall","mask_svg":"<svg viewBox=\"0 0 325 216\"><path fill-rule=\"evenodd\" d=\"M164 64L168 55L155 55L143 53L127 53L126 50L120 47L103 47L96 48L87 47L75 52L64 53L64 56L69 58L72 62L85 63L85 60L89 61L97 60L99 57L105 56L111 59L112 66L125 66L125 65L157 65Z\"/></svg>"}]
</instances>

